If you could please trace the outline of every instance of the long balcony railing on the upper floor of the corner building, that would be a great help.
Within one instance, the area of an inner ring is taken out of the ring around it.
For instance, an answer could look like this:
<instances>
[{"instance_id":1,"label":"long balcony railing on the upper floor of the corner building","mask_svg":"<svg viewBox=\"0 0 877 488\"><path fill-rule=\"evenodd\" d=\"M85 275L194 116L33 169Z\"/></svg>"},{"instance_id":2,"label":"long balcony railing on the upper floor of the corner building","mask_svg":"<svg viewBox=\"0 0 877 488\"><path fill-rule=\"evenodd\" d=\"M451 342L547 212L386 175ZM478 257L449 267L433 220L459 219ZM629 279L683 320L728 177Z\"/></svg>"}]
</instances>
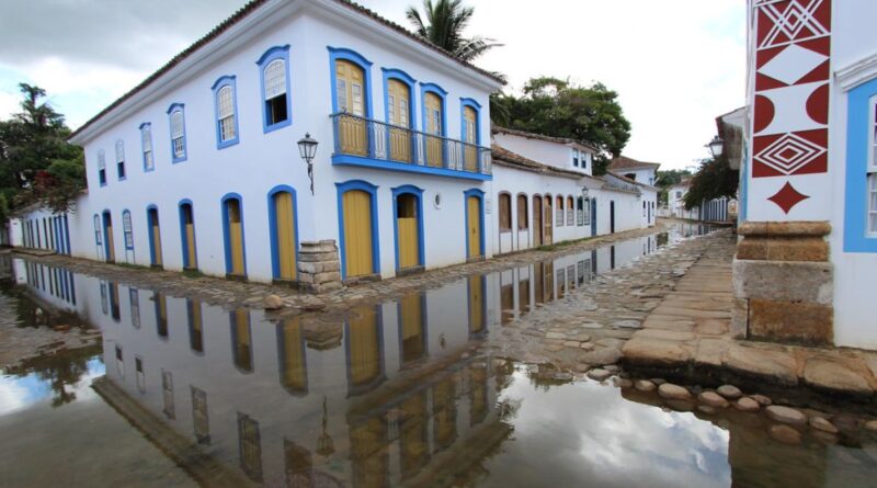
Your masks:
<instances>
[{"instance_id":1,"label":"long balcony railing on the upper floor of the corner building","mask_svg":"<svg viewBox=\"0 0 877 488\"><path fill-rule=\"evenodd\" d=\"M337 113L332 115L335 155L490 175L490 149L384 122ZM429 172L429 171L425 171Z\"/></svg>"}]
</instances>

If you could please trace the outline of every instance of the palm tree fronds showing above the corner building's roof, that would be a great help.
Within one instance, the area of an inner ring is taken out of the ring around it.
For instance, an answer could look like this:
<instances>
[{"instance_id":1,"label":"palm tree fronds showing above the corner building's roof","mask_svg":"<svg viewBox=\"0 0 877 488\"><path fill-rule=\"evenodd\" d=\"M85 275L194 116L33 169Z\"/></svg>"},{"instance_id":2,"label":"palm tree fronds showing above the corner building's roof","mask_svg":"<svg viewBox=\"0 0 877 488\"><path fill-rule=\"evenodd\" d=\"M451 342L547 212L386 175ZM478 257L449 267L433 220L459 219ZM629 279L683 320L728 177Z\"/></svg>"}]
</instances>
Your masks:
<instances>
[{"instance_id":1,"label":"palm tree fronds showing above the corner building's roof","mask_svg":"<svg viewBox=\"0 0 877 488\"><path fill-rule=\"evenodd\" d=\"M463 0L423 0L423 11L425 22L415 7L406 11L417 35L464 61L471 61L491 47L501 46L488 37L463 36L475 12L475 8L463 5Z\"/></svg>"}]
</instances>

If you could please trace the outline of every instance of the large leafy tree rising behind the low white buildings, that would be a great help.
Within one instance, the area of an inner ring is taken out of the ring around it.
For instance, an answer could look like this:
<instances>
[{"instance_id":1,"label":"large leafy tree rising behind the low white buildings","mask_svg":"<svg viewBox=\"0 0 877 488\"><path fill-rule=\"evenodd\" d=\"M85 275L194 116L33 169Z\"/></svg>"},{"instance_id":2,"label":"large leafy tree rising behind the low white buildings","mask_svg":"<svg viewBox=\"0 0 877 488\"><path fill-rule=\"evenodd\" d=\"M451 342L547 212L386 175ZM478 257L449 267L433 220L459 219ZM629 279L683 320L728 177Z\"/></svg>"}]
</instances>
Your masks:
<instances>
[{"instance_id":1,"label":"large leafy tree rising behind the low white buildings","mask_svg":"<svg viewBox=\"0 0 877 488\"><path fill-rule=\"evenodd\" d=\"M581 87L554 77L533 78L522 97L500 93L491 102L491 118L498 125L595 146L596 174L605 172L630 138L618 93L600 82Z\"/></svg>"}]
</instances>

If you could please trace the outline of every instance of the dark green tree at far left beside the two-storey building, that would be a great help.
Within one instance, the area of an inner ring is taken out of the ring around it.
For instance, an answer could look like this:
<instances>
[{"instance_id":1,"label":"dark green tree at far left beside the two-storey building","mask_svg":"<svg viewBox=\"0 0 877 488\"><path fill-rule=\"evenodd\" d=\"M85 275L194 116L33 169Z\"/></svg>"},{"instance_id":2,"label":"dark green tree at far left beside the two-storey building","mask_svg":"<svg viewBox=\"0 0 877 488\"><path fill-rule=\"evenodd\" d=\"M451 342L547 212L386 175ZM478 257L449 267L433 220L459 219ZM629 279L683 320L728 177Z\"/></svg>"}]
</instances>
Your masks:
<instances>
[{"instance_id":1,"label":"dark green tree at far left beside the two-storey building","mask_svg":"<svg viewBox=\"0 0 877 488\"><path fill-rule=\"evenodd\" d=\"M67 143L64 115L45 90L20 83L21 112L0 122L0 218L38 203L66 212L86 186L82 150Z\"/></svg>"}]
</instances>

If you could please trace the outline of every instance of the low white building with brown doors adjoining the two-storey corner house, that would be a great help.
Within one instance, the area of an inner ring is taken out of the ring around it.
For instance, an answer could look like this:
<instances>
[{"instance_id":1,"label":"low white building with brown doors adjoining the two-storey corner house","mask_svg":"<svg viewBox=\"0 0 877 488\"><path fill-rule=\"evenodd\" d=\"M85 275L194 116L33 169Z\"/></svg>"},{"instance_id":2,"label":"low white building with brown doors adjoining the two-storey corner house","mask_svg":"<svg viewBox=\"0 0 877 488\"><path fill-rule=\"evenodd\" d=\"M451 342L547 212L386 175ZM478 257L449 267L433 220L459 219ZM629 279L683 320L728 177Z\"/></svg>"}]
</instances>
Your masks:
<instances>
[{"instance_id":1,"label":"low white building with brown doors adjoining the two-storey corner house","mask_svg":"<svg viewBox=\"0 0 877 488\"><path fill-rule=\"evenodd\" d=\"M494 127L492 148L497 253L654 224L657 191L614 174L593 177L591 146Z\"/></svg>"}]
</instances>

